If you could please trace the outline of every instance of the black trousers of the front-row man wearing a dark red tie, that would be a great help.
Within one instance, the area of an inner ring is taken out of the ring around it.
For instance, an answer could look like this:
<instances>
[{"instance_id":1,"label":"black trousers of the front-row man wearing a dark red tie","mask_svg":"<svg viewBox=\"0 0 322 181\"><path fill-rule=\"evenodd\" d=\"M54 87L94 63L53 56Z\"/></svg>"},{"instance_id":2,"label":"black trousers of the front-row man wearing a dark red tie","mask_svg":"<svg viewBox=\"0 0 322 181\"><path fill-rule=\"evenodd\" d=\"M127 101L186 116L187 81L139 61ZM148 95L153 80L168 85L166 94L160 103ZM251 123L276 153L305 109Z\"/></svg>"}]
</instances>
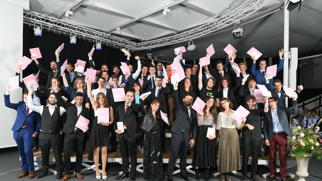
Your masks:
<instances>
[{"instance_id":1,"label":"black trousers of the front-row man wearing a dark red tie","mask_svg":"<svg viewBox=\"0 0 322 181\"><path fill-rule=\"evenodd\" d=\"M130 164L131 164L131 174L135 174L137 169L137 152L135 150L137 137L130 137L127 131L124 131L123 138L118 139L118 143L120 145L120 149L122 151L122 165L123 165L123 173L128 174L129 168L129 159L128 155L130 155Z\"/></svg>"}]
</instances>

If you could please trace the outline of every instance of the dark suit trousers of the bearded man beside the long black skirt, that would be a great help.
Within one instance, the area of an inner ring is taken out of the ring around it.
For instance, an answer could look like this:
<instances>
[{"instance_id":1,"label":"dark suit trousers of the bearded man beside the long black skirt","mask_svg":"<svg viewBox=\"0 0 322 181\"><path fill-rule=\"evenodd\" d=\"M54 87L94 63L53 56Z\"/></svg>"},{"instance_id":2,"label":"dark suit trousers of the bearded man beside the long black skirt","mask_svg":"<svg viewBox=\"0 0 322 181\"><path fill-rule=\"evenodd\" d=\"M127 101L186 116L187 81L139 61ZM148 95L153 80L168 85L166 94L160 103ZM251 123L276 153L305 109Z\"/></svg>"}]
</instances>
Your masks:
<instances>
[{"instance_id":1,"label":"dark suit trousers of the bearded man beside the long black skirt","mask_svg":"<svg viewBox=\"0 0 322 181\"><path fill-rule=\"evenodd\" d=\"M168 174L172 174L175 167L175 160L177 159L178 153L180 151L180 173L186 173L186 163L187 163L187 150L189 148L190 139L185 139L183 137L183 132L180 134L171 133L171 155L168 163Z\"/></svg>"}]
</instances>

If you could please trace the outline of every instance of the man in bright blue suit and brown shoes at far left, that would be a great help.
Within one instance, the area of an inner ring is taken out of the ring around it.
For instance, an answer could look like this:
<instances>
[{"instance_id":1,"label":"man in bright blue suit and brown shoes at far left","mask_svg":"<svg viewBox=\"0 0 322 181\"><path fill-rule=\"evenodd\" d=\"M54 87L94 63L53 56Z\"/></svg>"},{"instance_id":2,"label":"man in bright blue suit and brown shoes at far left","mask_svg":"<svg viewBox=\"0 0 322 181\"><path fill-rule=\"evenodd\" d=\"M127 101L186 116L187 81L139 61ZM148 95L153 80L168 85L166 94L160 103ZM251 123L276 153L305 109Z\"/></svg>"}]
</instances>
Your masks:
<instances>
[{"instance_id":1,"label":"man in bright blue suit and brown shoes at far left","mask_svg":"<svg viewBox=\"0 0 322 181\"><path fill-rule=\"evenodd\" d=\"M33 178L35 168L33 167L33 138L37 136L41 126L41 116L39 113L27 107L28 92L23 93L23 100L18 103L11 103L9 96L10 84L7 85L5 93L5 106L17 110L17 117L11 130L14 131L14 140L17 143L20 157L22 173L18 178L29 175ZM37 126L34 128L34 120L37 118Z\"/></svg>"}]
</instances>

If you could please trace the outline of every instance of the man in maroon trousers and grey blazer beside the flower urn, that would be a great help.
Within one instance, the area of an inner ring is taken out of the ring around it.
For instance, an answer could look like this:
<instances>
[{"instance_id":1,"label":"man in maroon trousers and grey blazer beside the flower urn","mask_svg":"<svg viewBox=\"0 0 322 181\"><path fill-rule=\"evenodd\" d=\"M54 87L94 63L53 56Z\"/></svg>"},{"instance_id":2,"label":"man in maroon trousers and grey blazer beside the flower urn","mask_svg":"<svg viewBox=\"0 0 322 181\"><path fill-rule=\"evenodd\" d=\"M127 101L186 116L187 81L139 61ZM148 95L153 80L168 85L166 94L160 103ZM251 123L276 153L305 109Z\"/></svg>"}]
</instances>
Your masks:
<instances>
[{"instance_id":1,"label":"man in maroon trousers and grey blazer beside the flower urn","mask_svg":"<svg viewBox=\"0 0 322 181\"><path fill-rule=\"evenodd\" d=\"M296 94L295 92L293 94ZM280 178L282 181L287 181L287 136L292 137L291 130L289 128L289 121L287 115L295 114L298 111L298 101L293 98L292 109L286 106L279 107L276 97L270 97L268 104L270 109L266 113L264 119L263 136L265 139L265 145L270 148L270 177L268 181L276 179L276 151L278 147L279 162L280 162Z\"/></svg>"}]
</instances>

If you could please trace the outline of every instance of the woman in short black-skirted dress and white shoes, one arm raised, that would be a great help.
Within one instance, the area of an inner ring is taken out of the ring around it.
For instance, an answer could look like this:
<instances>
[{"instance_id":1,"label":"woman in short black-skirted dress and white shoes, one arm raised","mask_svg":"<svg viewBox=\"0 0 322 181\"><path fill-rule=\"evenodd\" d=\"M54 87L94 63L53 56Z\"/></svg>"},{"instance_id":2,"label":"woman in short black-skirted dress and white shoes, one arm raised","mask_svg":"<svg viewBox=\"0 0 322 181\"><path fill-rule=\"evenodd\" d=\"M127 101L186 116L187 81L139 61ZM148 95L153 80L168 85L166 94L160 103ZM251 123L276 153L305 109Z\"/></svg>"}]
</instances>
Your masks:
<instances>
[{"instance_id":1,"label":"woman in short black-skirted dress and white shoes, one arm raised","mask_svg":"<svg viewBox=\"0 0 322 181\"><path fill-rule=\"evenodd\" d=\"M86 77L88 96L90 98L90 102L94 108L95 119L90 130L90 146L88 149L88 160L93 161L96 169L96 178L100 179L99 173L99 151L101 152L102 158L102 178L106 179L106 161L107 161L107 147L109 145L109 125L113 123L114 113L113 108L109 106L106 96L103 92L99 92L96 96L96 100L94 99L92 92L90 90L91 81ZM98 108L109 108L109 122L108 120L105 122L97 123L97 109Z\"/></svg>"}]
</instances>

